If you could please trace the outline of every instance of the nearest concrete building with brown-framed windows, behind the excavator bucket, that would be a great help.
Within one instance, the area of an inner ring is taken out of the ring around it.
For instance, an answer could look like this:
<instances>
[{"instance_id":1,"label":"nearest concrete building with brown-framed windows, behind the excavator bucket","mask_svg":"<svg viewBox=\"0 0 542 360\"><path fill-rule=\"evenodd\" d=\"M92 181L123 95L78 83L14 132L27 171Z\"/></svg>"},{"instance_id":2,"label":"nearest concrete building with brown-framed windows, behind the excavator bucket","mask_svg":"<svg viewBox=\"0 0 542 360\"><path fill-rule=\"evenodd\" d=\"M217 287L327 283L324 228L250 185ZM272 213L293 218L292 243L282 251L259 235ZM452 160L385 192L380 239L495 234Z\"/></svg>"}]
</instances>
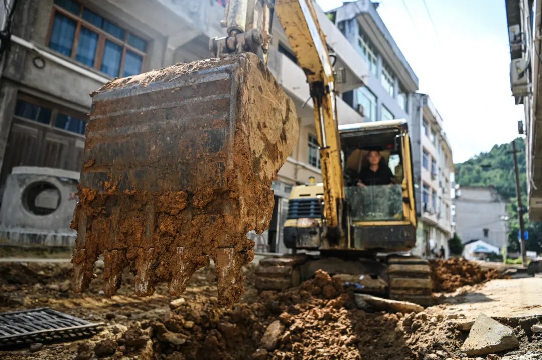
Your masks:
<instances>
[{"instance_id":1,"label":"nearest concrete building with brown-framed windows, behind the excavator bucket","mask_svg":"<svg viewBox=\"0 0 542 360\"><path fill-rule=\"evenodd\" d=\"M114 77L209 57L209 38L225 35L220 26L222 4L18 0L11 46L0 55L0 193L14 166L78 171L91 105L88 94ZM317 13L336 55L335 66L346 70L347 81L339 85L340 91L359 88L367 75L364 58L318 6ZM4 23L5 12L1 14ZM273 23L268 65L294 99L300 133L298 145L273 183L275 211L261 251L281 250L281 225L291 186L311 176L321 179L312 103L302 106L309 98L306 77L279 19ZM337 108L344 121L363 121L342 99Z\"/></svg>"}]
</instances>

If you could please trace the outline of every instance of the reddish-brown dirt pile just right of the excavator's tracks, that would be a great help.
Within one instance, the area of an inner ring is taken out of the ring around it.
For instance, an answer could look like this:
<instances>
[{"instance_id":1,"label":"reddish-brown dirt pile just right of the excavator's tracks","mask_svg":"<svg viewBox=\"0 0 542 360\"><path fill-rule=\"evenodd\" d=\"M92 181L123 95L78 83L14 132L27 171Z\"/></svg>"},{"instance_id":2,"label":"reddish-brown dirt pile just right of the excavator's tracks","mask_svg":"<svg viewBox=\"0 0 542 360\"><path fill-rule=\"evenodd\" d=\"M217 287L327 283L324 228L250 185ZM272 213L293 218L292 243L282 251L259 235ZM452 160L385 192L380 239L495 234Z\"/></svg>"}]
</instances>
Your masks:
<instances>
[{"instance_id":1,"label":"reddish-brown dirt pile just right of the excavator's tracks","mask_svg":"<svg viewBox=\"0 0 542 360\"><path fill-rule=\"evenodd\" d=\"M461 286L503 278L499 271L483 270L478 264L463 258L436 259L430 262L430 266L436 292L453 292Z\"/></svg>"}]
</instances>

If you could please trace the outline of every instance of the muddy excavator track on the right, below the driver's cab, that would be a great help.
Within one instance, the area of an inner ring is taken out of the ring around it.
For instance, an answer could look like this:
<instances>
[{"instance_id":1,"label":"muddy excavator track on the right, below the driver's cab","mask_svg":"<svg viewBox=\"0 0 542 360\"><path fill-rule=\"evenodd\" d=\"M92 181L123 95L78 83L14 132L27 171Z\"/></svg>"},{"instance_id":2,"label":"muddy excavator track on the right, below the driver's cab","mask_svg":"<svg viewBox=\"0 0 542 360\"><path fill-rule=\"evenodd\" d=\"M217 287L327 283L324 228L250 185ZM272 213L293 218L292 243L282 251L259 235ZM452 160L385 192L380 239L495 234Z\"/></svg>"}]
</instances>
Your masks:
<instances>
[{"instance_id":1,"label":"muddy excavator track on the right, below the driver's cab","mask_svg":"<svg viewBox=\"0 0 542 360\"><path fill-rule=\"evenodd\" d=\"M419 257L388 258L390 299L422 306L433 305L433 281L429 262Z\"/></svg>"}]
</instances>

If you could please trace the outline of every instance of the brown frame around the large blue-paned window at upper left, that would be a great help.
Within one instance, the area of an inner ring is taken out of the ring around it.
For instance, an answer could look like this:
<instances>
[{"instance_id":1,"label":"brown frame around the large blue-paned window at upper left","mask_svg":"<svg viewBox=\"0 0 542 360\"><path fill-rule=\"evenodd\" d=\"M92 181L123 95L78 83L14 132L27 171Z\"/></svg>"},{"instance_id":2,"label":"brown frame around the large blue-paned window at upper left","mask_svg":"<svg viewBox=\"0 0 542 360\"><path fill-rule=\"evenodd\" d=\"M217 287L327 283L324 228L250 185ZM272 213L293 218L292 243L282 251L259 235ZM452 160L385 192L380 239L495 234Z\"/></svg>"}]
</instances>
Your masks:
<instances>
[{"instance_id":1,"label":"brown frame around the large blue-paned window at upper left","mask_svg":"<svg viewBox=\"0 0 542 360\"><path fill-rule=\"evenodd\" d=\"M50 15L50 18L49 18L49 28L47 30L47 37L46 37L46 42L45 42L45 45L47 46L47 48L49 50L51 50L51 51L54 51L56 54L59 54L60 56L69 57L70 59L72 59L76 63L80 64L81 66L86 66L88 68L92 68L94 70L97 70L97 71L101 72L101 74L105 74L106 76L114 77L114 76L111 76L111 75L107 74L104 71L101 71L101 65L102 65L102 62L104 60L105 44L106 44L106 41L109 40L109 41L111 41L111 42L113 42L113 43L115 43L115 44L122 47L122 56L121 56L121 59L120 59L119 74L117 75L118 77L124 77L124 76L122 76L122 73L124 72L125 61L126 61L126 52L128 50L134 52L136 55L141 56L140 73L144 72L145 68L146 68L145 64L146 64L146 59L147 59L147 51L149 50L148 49L149 48L149 40L142 37L142 36L140 36L140 35L138 35L138 34L135 34L135 32L133 32L131 29L126 28L125 26L118 25L117 22L112 21L111 19L109 19L109 17L101 15L100 11L95 11L93 8L88 7L88 6L86 6L85 4L82 4L79 1L75 1L75 2L79 4L79 12L78 12L77 15L73 14L73 12L70 12L70 11L62 8L60 5L57 5L57 4L53 3L53 8L51 10L51 15ZM88 22L87 20L83 19L83 10L85 8L87 8L88 10L90 10L92 12L95 12L97 15L99 15L102 18L106 19L107 21L113 23L114 25L119 26L119 28L121 28L122 30L125 31L124 39L121 40L118 37L115 37L114 35L109 34L104 29L98 28L98 26L96 26L93 23ZM70 56L64 55L64 54L56 51L55 49L52 49L52 48L49 47L49 44L50 44L50 41L51 41L51 35L52 35L52 32L53 32L53 26L54 26L54 23L55 23L55 14L56 14L56 12L59 12L63 16L66 16L66 17L68 17L68 18L70 18L70 19L72 19L73 21L76 22L75 34L74 34L74 38L73 38L73 42L72 42L72 54L70 54ZM79 45L79 39L80 39L81 27L82 26L85 26L89 30L91 30L91 31L95 32L96 34L98 34L98 43L96 44L96 51L94 53L94 64L92 66L87 65L87 64L85 64L83 62L80 62L80 61L75 59L75 57L77 55L77 49L78 49L78 45ZM138 48L135 48L134 46L132 46L131 44L128 43L128 38L130 37L130 34L133 34L133 35L135 35L135 36L137 36L137 37L139 37L139 38L141 38L141 39L143 39L145 41L146 51L141 51ZM130 76L133 76L133 75L130 75Z\"/></svg>"}]
</instances>

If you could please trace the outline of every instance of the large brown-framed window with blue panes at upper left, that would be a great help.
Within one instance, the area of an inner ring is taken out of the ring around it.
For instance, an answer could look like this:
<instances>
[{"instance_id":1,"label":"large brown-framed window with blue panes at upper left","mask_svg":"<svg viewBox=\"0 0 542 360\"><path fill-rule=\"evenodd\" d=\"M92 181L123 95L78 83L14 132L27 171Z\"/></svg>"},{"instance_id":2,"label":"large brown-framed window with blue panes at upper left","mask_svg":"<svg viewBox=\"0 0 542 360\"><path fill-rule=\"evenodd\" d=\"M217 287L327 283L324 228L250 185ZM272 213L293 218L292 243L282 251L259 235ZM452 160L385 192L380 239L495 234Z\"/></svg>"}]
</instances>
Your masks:
<instances>
[{"instance_id":1,"label":"large brown-framed window with blue panes at upper left","mask_svg":"<svg viewBox=\"0 0 542 360\"><path fill-rule=\"evenodd\" d=\"M55 0L49 48L112 77L141 72L147 42L74 0Z\"/></svg>"}]
</instances>

